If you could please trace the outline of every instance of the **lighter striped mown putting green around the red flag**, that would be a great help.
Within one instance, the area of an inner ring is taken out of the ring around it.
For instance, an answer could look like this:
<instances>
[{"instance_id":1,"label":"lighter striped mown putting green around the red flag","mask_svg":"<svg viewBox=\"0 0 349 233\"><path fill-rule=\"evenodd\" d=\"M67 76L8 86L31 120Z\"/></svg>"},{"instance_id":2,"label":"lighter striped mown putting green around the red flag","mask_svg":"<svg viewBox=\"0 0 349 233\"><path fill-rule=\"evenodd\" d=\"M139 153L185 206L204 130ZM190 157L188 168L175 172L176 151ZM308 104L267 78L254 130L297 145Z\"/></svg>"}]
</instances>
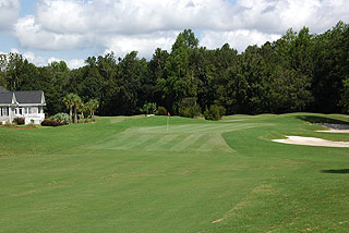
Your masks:
<instances>
[{"instance_id":1,"label":"lighter striped mown putting green around the red flag","mask_svg":"<svg viewBox=\"0 0 349 233\"><path fill-rule=\"evenodd\" d=\"M225 132L269 126L267 123L222 124L202 123L130 127L125 132L96 142L87 149L216 151L233 152L222 138Z\"/></svg>"}]
</instances>

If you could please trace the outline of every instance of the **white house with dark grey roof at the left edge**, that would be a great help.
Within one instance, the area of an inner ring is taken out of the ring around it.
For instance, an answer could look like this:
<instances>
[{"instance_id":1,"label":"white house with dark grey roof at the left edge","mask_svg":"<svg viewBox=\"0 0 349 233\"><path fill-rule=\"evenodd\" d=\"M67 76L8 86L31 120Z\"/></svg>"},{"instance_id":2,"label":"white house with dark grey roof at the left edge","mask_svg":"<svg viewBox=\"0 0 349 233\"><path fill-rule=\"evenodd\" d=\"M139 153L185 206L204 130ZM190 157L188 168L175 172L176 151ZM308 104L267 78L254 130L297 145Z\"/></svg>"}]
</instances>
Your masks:
<instances>
[{"instance_id":1,"label":"white house with dark grey roof at the left edge","mask_svg":"<svg viewBox=\"0 0 349 233\"><path fill-rule=\"evenodd\" d=\"M40 124L45 120L43 90L9 91L0 86L0 122L24 118L25 124Z\"/></svg>"}]
</instances>

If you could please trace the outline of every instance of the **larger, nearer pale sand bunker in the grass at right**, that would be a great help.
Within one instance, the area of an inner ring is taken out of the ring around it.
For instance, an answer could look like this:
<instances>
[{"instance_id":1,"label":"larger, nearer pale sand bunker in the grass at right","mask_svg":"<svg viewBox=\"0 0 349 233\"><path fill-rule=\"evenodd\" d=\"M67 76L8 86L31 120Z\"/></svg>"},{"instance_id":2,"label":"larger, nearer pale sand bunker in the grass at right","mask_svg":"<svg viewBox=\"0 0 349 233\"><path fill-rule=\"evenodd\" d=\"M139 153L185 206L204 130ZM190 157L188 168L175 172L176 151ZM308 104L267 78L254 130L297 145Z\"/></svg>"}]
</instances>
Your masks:
<instances>
[{"instance_id":1,"label":"larger, nearer pale sand bunker in the grass at right","mask_svg":"<svg viewBox=\"0 0 349 233\"><path fill-rule=\"evenodd\" d=\"M287 139L274 139L273 142L282 144L326 146L326 147L349 147L349 142L333 142L316 137L286 136Z\"/></svg>"}]
</instances>

